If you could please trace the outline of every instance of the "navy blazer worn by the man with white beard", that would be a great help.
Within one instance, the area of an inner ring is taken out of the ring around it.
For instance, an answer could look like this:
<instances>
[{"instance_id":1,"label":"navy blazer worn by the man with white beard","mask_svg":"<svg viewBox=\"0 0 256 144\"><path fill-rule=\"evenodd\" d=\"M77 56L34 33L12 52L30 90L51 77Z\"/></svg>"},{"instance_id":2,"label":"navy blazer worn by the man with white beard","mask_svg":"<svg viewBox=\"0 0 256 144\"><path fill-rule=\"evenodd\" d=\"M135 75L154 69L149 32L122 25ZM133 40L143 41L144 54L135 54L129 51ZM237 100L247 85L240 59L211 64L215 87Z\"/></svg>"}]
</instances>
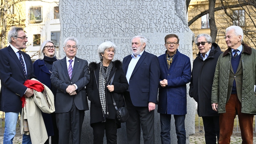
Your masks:
<instances>
[{"instance_id":1,"label":"navy blazer worn by the man with white beard","mask_svg":"<svg viewBox=\"0 0 256 144\"><path fill-rule=\"evenodd\" d=\"M126 56L123 60L125 74L127 73L131 60L131 55ZM160 68L157 57L154 54L144 51L129 80L128 90L130 91L134 106L148 107L148 102L156 103L159 77Z\"/></svg>"}]
</instances>

